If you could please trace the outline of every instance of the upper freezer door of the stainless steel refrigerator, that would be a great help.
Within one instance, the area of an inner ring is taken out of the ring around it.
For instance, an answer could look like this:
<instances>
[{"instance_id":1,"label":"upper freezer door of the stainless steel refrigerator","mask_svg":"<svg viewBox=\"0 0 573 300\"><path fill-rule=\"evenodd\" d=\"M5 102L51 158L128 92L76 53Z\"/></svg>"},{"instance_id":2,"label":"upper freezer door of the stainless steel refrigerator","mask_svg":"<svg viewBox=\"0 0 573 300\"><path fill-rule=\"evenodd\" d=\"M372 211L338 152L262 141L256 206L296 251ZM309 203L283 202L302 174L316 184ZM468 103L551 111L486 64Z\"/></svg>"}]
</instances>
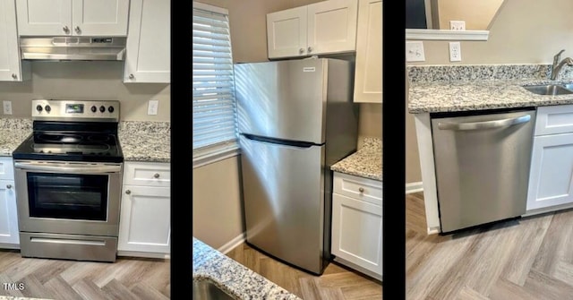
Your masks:
<instances>
[{"instance_id":1,"label":"upper freezer door of the stainless steel refrigerator","mask_svg":"<svg viewBox=\"0 0 573 300\"><path fill-rule=\"evenodd\" d=\"M327 62L235 64L239 133L323 143Z\"/></svg>"}]
</instances>

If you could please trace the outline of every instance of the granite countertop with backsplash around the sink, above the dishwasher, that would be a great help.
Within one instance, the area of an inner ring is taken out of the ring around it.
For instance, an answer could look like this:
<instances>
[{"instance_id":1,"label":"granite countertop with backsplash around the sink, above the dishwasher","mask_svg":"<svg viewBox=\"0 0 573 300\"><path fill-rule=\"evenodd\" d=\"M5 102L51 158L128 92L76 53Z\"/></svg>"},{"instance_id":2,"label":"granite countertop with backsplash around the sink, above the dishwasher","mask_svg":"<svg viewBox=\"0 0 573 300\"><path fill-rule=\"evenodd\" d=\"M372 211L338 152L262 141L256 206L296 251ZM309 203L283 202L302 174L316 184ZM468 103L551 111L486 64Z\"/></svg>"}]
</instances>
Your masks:
<instances>
[{"instance_id":1,"label":"granite countertop with backsplash around the sink, above the dishwasher","mask_svg":"<svg viewBox=\"0 0 573 300\"><path fill-rule=\"evenodd\" d=\"M548 80L551 65L428 65L408 67L411 114L573 104L573 94L537 95L523 85L573 82L573 68Z\"/></svg>"}]
</instances>

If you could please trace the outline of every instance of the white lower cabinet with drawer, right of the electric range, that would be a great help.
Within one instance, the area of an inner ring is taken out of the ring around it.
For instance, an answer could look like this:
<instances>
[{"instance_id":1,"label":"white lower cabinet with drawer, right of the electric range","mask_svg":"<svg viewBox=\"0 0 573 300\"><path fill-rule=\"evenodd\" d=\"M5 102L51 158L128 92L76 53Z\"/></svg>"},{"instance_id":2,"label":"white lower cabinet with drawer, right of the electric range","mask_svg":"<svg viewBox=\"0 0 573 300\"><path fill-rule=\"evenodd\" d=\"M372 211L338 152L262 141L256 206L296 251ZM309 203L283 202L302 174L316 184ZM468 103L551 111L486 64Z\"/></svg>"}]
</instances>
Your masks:
<instances>
[{"instance_id":1,"label":"white lower cabinet with drawer, right of the electric range","mask_svg":"<svg viewBox=\"0 0 573 300\"><path fill-rule=\"evenodd\" d=\"M164 257L170 253L170 199L169 164L125 162L118 255Z\"/></svg>"}]
</instances>

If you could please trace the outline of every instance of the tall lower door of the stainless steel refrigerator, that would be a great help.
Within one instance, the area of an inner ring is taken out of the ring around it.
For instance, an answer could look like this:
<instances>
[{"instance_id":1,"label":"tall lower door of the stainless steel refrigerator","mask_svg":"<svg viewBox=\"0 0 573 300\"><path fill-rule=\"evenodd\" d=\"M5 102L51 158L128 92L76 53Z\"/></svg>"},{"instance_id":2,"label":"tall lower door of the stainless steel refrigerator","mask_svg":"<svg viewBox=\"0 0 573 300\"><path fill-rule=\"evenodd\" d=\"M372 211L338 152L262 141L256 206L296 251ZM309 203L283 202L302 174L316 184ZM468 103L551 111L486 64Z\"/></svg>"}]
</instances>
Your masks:
<instances>
[{"instance_id":1,"label":"tall lower door of the stainless steel refrigerator","mask_svg":"<svg viewBox=\"0 0 573 300\"><path fill-rule=\"evenodd\" d=\"M321 274L325 146L240 141L247 242Z\"/></svg>"}]
</instances>

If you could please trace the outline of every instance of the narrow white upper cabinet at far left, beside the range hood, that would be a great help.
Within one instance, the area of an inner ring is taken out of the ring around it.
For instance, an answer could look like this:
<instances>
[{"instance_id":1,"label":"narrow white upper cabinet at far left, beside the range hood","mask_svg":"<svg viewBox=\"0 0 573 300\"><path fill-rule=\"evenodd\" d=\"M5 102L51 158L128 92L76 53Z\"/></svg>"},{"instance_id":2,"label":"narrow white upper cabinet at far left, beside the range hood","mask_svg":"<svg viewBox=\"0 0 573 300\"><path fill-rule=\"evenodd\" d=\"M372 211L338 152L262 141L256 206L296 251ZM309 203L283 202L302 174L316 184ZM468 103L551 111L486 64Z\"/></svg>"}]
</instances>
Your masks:
<instances>
[{"instance_id":1,"label":"narrow white upper cabinet at far left, beside the range hood","mask_svg":"<svg viewBox=\"0 0 573 300\"><path fill-rule=\"evenodd\" d=\"M16 28L16 7L12 0L0 0L0 81L30 79L30 64L21 62Z\"/></svg>"}]
</instances>

